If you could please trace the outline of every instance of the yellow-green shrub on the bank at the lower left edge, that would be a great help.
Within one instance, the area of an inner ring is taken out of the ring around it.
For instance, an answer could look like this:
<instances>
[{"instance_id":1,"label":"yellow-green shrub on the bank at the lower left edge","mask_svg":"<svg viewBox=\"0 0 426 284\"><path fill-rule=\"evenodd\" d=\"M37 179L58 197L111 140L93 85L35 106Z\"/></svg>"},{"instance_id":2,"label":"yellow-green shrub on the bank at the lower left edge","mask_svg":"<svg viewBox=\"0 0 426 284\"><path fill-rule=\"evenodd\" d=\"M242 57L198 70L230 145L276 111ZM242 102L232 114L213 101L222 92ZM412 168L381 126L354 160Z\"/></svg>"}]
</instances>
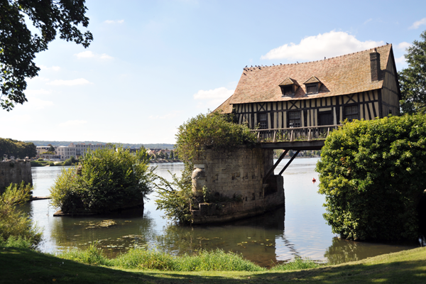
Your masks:
<instances>
[{"instance_id":1,"label":"yellow-green shrub on the bank at the lower left edge","mask_svg":"<svg viewBox=\"0 0 426 284\"><path fill-rule=\"evenodd\" d=\"M16 209L16 205L28 202L33 187L24 182L11 184L0 195L0 245L7 246L18 240L23 240L33 246L41 241L41 233L36 229L31 219Z\"/></svg>"}]
</instances>

